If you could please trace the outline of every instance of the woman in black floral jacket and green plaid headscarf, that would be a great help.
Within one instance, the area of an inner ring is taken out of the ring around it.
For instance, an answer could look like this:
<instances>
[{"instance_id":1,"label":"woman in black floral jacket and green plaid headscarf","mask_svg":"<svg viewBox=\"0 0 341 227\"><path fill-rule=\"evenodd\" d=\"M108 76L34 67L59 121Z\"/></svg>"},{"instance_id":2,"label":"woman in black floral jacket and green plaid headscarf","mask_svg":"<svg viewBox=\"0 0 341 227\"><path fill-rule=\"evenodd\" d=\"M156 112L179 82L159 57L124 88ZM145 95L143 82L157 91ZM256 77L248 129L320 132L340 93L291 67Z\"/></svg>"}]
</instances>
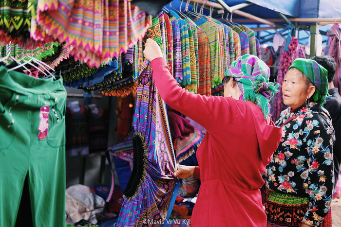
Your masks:
<instances>
[{"instance_id":1,"label":"woman in black floral jacket and green plaid headscarf","mask_svg":"<svg viewBox=\"0 0 341 227\"><path fill-rule=\"evenodd\" d=\"M268 227L331 226L334 129L322 106L328 93L327 70L297 58L282 86L280 145L266 166ZM329 225L330 224L330 225Z\"/></svg>"}]
</instances>

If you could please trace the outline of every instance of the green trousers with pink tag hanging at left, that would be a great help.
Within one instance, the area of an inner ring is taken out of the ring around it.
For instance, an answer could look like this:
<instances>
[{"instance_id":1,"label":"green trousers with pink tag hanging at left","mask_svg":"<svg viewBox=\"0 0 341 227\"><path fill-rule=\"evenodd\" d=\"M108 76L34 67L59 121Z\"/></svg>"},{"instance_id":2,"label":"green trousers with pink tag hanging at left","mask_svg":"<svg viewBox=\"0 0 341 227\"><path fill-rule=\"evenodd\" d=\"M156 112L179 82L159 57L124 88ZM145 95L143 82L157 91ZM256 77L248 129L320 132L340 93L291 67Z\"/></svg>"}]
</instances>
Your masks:
<instances>
[{"instance_id":1,"label":"green trousers with pink tag hanging at left","mask_svg":"<svg viewBox=\"0 0 341 227\"><path fill-rule=\"evenodd\" d=\"M0 67L0 226L14 226L24 179L35 226L65 225L65 105L62 78ZM53 205L53 206L52 206Z\"/></svg>"}]
</instances>

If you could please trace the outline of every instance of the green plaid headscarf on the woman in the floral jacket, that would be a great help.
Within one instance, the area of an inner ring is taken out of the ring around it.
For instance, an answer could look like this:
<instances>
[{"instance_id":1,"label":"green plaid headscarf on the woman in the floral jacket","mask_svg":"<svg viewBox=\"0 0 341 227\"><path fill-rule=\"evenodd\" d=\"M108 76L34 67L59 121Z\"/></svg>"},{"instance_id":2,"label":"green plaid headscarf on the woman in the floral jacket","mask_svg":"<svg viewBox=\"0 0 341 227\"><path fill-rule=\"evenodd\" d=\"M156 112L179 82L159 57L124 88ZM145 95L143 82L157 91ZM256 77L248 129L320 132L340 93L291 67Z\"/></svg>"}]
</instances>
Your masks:
<instances>
[{"instance_id":1,"label":"green plaid headscarf on the woman in the floral jacket","mask_svg":"<svg viewBox=\"0 0 341 227\"><path fill-rule=\"evenodd\" d=\"M314 101L323 105L325 98L328 95L327 70L316 61L304 58L296 58L289 67L289 70L291 68L300 70L306 77L308 77L308 79L316 87L313 95Z\"/></svg>"}]
</instances>

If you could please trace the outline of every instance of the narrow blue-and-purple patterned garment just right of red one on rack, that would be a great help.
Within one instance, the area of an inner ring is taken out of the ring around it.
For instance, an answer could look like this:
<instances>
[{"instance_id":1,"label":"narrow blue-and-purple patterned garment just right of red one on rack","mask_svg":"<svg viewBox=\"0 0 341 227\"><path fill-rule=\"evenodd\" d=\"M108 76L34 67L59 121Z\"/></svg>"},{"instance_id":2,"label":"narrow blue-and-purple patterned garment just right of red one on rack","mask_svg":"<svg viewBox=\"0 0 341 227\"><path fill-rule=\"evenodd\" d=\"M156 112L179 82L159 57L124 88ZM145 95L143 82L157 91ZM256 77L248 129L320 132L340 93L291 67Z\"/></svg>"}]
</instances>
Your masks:
<instances>
[{"instance_id":1,"label":"narrow blue-and-purple patterned garment just right of red one on rack","mask_svg":"<svg viewBox=\"0 0 341 227\"><path fill-rule=\"evenodd\" d=\"M180 41L180 28L179 23L175 17L170 17L173 35L173 77L176 81L181 84L183 80L182 76L182 52L181 52L181 41Z\"/></svg>"}]
</instances>

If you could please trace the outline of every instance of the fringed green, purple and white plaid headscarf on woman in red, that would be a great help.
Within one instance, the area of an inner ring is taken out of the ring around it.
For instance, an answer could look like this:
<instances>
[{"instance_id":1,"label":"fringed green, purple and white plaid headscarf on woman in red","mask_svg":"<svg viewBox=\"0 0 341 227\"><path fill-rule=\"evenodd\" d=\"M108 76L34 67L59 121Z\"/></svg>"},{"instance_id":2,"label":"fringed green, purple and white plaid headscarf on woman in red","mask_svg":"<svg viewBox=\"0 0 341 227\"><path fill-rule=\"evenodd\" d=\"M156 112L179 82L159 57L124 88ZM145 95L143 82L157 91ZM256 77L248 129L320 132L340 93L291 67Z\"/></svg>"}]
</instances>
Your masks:
<instances>
[{"instance_id":1,"label":"fringed green, purple and white plaid headscarf on woman in red","mask_svg":"<svg viewBox=\"0 0 341 227\"><path fill-rule=\"evenodd\" d=\"M265 119L270 111L269 100L278 92L279 84L269 82L270 69L257 56L245 54L238 57L225 76L234 77L242 91L240 100L251 100L261 107Z\"/></svg>"}]
</instances>

